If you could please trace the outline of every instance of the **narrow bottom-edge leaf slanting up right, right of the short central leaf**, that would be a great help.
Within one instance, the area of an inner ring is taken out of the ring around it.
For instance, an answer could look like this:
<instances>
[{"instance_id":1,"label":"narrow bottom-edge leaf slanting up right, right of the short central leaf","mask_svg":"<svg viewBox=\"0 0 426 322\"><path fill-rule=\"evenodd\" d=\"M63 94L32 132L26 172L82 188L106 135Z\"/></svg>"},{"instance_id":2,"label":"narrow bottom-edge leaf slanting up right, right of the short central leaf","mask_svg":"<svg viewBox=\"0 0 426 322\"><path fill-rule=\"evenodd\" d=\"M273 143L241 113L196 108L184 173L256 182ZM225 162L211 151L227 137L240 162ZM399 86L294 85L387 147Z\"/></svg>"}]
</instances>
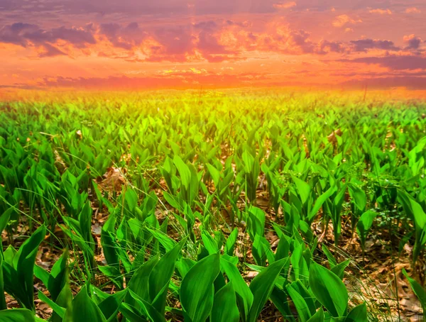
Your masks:
<instances>
[{"instance_id":1,"label":"narrow bottom-edge leaf slanting up right, right of the short central leaf","mask_svg":"<svg viewBox=\"0 0 426 322\"><path fill-rule=\"evenodd\" d=\"M251 281L250 291L253 294L253 304L249 311L249 322L257 321L263 306L266 304L266 301L268 301L268 297L271 296L275 280L287 261L288 258L283 258L282 260L273 262L266 267L265 270L257 274L253 281Z\"/></svg>"}]
</instances>

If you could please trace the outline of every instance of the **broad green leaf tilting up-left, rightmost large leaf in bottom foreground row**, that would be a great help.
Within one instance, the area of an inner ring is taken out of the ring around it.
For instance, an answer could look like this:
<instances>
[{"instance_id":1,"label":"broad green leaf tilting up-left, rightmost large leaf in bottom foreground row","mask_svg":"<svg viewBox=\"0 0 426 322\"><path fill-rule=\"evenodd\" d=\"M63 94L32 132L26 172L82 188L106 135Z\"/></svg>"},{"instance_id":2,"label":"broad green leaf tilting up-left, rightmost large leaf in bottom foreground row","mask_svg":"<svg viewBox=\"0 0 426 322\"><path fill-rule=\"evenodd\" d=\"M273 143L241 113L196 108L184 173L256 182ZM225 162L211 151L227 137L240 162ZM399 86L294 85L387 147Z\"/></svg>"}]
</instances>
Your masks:
<instances>
[{"instance_id":1,"label":"broad green leaf tilting up-left, rightmost large leaf in bottom foreground row","mask_svg":"<svg viewBox=\"0 0 426 322\"><path fill-rule=\"evenodd\" d=\"M336 274L312 262L309 283L312 293L333 317L346 316L348 292Z\"/></svg>"}]
</instances>

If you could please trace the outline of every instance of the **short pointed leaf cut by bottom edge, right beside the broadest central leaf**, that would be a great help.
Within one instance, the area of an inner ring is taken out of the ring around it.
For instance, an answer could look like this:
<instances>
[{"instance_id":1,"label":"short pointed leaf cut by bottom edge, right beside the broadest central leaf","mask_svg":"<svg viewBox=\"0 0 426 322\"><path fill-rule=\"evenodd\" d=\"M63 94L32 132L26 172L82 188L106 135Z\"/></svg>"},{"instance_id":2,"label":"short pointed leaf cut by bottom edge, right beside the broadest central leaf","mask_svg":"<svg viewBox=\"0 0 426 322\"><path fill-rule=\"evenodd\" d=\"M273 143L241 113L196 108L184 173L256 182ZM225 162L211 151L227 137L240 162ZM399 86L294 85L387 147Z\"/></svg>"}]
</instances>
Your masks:
<instances>
[{"instance_id":1,"label":"short pointed leaf cut by bottom edge, right beside the broadest central leaf","mask_svg":"<svg viewBox=\"0 0 426 322\"><path fill-rule=\"evenodd\" d=\"M239 310L232 282L226 284L214 294L211 322L239 322Z\"/></svg>"}]
</instances>

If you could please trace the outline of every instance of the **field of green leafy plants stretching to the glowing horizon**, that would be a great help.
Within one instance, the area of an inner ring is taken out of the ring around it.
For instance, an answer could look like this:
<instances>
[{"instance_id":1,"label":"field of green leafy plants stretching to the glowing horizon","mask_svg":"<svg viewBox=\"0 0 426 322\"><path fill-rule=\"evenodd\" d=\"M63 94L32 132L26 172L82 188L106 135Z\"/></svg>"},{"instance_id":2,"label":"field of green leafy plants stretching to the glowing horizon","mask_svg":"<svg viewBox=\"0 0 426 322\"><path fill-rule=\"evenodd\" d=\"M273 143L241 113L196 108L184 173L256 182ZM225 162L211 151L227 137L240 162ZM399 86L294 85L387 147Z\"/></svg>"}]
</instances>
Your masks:
<instances>
[{"instance_id":1,"label":"field of green leafy plants stretching to the glowing horizon","mask_svg":"<svg viewBox=\"0 0 426 322\"><path fill-rule=\"evenodd\" d=\"M16 97L0 321L422 320L425 101Z\"/></svg>"}]
</instances>

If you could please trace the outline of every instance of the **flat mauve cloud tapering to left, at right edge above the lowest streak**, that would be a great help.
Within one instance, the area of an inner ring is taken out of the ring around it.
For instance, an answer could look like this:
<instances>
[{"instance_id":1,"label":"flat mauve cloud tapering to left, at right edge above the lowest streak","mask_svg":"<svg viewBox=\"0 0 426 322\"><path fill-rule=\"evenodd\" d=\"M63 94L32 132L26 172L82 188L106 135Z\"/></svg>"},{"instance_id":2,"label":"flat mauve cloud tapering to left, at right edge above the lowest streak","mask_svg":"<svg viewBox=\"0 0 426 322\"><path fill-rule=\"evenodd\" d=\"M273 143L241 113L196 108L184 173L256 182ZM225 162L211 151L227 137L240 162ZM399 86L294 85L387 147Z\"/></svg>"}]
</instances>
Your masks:
<instances>
[{"instance_id":1,"label":"flat mauve cloud tapering to left, at right edge above the lowest streak","mask_svg":"<svg viewBox=\"0 0 426 322\"><path fill-rule=\"evenodd\" d=\"M341 62L356 62L364 64L381 65L391 70L425 70L426 57L415 55L388 55L384 57L360 57L353 60L340 60Z\"/></svg>"}]
</instances>

